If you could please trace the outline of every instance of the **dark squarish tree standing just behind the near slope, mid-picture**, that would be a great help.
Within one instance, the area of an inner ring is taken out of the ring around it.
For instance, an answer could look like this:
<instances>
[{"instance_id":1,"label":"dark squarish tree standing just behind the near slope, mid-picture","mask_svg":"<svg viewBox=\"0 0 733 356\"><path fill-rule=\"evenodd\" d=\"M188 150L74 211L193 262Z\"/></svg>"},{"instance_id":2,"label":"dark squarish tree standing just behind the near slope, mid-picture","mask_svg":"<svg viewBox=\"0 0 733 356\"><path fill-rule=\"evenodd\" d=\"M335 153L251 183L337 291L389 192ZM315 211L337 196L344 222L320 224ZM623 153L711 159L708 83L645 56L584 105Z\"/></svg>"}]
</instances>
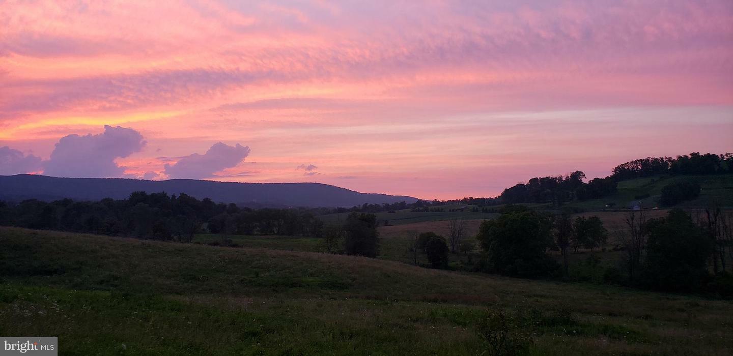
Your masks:
<instances>
[{"instance_id":1,"label":"dark squarish tree standing just behind the near slope, mid-picture","mask_svg":"<svg viewBox=\"0 0 733 356\"><path fill-rule=\"evenodd\" d=\"M352 212L344 226L344 248L348 255L376 257L379 254L377 216Z\"/></svg>"}]
</instances>

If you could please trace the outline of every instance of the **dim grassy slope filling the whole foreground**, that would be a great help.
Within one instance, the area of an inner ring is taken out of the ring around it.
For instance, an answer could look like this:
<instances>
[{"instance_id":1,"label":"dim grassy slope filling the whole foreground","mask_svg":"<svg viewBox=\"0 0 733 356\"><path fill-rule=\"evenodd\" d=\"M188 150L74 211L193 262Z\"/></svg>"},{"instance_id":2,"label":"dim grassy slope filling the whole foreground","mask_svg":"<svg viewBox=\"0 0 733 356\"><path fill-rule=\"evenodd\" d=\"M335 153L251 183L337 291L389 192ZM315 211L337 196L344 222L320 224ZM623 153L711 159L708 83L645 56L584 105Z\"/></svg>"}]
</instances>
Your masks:
<instances>
[{"instance_id":1,"label":"dim grassy slope filling the whole foreground","mask_svg":"<svg viewBox=\"0 0 733 356\"><path fill-rule=\"evenodd\" d=\"M733 303L699 297L15 228L0 256L0 335L61 355L480 355L487 311L532 308L532 355L733 352Z\"/></svg>"}]
</instances>

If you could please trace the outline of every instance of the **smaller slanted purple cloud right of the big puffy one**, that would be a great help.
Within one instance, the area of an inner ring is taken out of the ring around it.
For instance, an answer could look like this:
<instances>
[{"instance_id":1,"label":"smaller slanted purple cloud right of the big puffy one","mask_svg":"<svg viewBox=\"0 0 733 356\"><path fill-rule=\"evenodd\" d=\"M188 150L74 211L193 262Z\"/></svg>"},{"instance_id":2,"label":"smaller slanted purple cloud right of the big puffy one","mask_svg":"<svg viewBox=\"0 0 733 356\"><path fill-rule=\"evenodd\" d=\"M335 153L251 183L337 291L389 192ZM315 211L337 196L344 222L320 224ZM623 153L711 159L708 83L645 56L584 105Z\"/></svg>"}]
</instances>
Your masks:
<instances>
[{"instance_id":1,"label":"smaller slanted purple cloud right of the big puffy one","mask_svg":"<svg viewBox=\"0 0 733 356\"><path fill-rule=\"evenodd\" d=\"M218 142L204 155L194 153L188 155L175 164L166 163L166 170L170 178L202 179L213 177L214 173L226 168L237 166L249 155L249 147L228 146Z\"/></svg>"}]
</instances>

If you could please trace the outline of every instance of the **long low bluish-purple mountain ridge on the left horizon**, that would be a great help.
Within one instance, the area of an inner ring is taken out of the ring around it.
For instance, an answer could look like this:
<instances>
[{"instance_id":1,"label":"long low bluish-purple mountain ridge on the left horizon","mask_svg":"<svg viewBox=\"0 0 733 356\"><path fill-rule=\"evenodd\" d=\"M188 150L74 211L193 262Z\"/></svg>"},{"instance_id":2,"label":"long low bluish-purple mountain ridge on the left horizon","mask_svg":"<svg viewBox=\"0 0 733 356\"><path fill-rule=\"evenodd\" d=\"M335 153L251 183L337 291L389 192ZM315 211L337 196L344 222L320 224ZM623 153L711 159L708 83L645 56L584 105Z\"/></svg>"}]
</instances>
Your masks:
<instances>
[{"instance_id":1,"label":"long low bluish-purple mountain ridge on the left horizon","mask_svg":"<svg viewBox=\"0 0 733 356\"><path fill-rule=\"evenodd\" d=\"M237 183L196 179L142 180L122 178L57 178L34 174L0 176L0 199L70 198L95 201L125 199L134 191L186 193L198 199L245 204L254 207L353 207L417 201L411 196L358 193L321 183Z\"/></svg>"}]
</instances>

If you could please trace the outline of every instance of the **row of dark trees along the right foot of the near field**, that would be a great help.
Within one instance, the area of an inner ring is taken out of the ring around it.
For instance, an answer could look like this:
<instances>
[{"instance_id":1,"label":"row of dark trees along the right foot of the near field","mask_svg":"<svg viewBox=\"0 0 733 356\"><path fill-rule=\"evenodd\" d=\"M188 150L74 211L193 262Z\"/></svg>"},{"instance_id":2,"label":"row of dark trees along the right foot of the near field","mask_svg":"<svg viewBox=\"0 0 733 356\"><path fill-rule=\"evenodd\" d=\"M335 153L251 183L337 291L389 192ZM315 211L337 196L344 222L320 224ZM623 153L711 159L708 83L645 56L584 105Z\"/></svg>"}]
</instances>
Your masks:
<instances>
[{"instance_id":1,"label":"row of dark trees along the right foot of the near field","mask_svg":"<svg viewBox=\"0 0 733 356\"><path fill-rule=\"evenodd\" d=\"M670 292L712 292L733 297L733 215L720 208L685 212L672 209L665 217L648 219L644 211L629 212L625 230L616 231L616 267L600 267L592 253L579 267L603 283L621 283ZM570 278L571 251L599 248L608 231L597 217L570 218L517 206L494 220L485 220L477 239L482 249L478 270L521 278ZM550 256L559 251L561 264ZM711 272L712 270L712 272Z\"/></svg>"}]
</instances>

